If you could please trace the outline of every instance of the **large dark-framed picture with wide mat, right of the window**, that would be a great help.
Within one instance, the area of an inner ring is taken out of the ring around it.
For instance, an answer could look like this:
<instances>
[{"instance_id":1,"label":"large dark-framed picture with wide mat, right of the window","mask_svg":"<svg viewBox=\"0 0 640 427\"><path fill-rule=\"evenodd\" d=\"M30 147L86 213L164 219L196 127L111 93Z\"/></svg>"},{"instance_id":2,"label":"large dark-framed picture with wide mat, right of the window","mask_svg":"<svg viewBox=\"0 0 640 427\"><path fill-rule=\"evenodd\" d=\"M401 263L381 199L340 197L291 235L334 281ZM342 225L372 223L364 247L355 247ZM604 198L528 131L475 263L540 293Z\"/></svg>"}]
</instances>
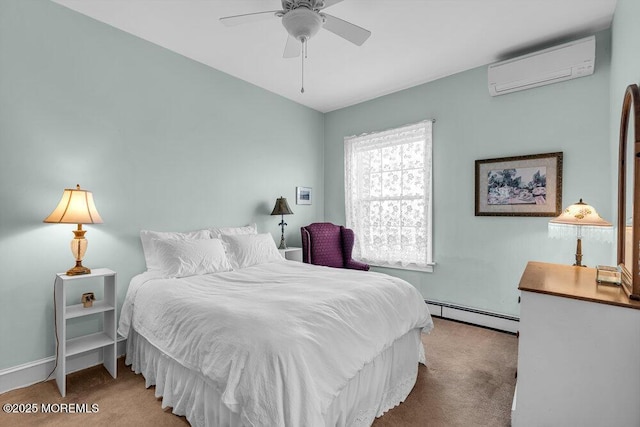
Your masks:
<instances>
[{"instance_id":1,"label":"large dark-framed picture with wide mat, right of the window","mask_svg":"<svg viewBox=\"0 0 640 427\"><path fill-rule=\"evenodd\" d=\"M562 153L476 160L476 216L558 216Z\"/></svg>"}]
</instances>

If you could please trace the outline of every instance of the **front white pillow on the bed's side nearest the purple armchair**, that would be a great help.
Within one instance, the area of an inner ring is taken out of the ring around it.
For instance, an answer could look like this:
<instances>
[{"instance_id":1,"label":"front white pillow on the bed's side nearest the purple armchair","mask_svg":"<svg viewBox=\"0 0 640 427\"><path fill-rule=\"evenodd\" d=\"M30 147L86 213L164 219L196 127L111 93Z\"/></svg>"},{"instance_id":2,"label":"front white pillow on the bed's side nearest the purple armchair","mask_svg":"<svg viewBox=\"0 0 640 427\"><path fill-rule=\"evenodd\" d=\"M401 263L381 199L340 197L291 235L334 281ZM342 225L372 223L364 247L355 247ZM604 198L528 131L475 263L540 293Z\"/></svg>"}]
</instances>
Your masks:
<instances>
[{"instance_id":1,"label":"front white pillow on the bed's side nearest the purple armchair","mask_svg":"<svg viewBox=\"0 0 640 427\"><path fill-rule=\"evenodd\" d=\"M222 240L226 243L229 261L234 269L282 261L276 242L273 241L273 237L269 233L223 235Z\"/></svg>"}]
</instances>

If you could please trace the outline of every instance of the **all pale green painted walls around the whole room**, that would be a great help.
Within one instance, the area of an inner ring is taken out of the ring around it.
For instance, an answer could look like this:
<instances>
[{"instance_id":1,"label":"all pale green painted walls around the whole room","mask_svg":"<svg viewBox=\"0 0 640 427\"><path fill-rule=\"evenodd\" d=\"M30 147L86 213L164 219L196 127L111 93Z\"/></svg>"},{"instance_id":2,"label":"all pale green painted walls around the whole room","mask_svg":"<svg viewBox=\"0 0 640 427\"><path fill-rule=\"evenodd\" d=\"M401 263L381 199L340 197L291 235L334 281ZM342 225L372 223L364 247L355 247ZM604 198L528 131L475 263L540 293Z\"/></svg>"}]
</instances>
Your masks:
<instances>
[{"instance_id":1,"label":"all pale green painted walls around the whole room","mask_svg":"<svg viewBox=\"0 0 640 427\"><path fill-rule=\"evenodd\" d=\"M343 137L424 118L437 120L438 264L385 271L427 298L517 315L526 262L571 262L575 244L550 240L547 218L475 217L474 161L564 151L563 204L583 197L614 220L639 14L618 0L590 77L491 98L479 67L322 115L46 0L0 1L0 369L54 354L53 277L72 264L73 227L41 221L63 188L94 192L105 223L86 227L85 264L117 270L122 301L144 267L139 229L255 221L277 237L274 199L311 186L314 204L287 218L298 244L300 225L344 222ZM614 261L613 245L584 252Z\"/></svg>"}]
</instances>

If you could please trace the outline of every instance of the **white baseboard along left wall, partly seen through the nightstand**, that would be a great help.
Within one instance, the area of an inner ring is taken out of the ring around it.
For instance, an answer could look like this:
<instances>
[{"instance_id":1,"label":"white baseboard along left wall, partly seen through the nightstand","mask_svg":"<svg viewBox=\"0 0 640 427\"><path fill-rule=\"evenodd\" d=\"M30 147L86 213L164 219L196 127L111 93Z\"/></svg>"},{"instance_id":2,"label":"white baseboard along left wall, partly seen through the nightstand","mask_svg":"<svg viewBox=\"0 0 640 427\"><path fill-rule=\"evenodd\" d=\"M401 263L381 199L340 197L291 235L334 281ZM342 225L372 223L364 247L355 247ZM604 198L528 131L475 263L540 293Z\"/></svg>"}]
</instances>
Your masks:
<instances>
[{"instance_id":1,"label":"white baseboard along left wall, partly seen through the nightstand","mask_svg":"<svg viewBox=\"0 0 640 427\"><path fill-rule=\"evenodd\" d=\"M126 353L126 342L125 338L118 339L118 357ZM49 379L54 379L55 373L52 371L55 364L56 358L51 356L0 370L0 394L42 382L47 379L49 374L51 374ZM100 364L102 364L102 350L88 351L67 358L67 373L70 374Z\"/></svg>"}]
</instances>

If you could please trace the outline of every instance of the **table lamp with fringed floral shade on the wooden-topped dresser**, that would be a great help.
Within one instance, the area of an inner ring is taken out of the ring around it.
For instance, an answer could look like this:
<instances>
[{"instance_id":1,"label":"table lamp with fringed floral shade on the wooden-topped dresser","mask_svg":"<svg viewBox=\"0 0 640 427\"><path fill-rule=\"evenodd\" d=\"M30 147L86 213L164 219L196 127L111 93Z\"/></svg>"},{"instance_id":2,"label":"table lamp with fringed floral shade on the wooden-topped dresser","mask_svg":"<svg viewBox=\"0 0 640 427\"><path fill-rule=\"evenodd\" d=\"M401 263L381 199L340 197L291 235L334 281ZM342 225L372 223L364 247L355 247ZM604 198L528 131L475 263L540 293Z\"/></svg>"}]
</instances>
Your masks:
<instances>
[{"instance_id":1,"label":"table lamp with fringed floral shade on the wooden-topped dresser","mask_svg":"<svg viewBox=\"0 0 640 427\"><path fill-rule=\"evenodd\" d=\"M560 216L549 221L549 237L574 238L577 237L576 262L578 267L582 265L582 239L612 241L613 226L598 215L593 206L584 203L582 199L576 204L566 208Z\"/></svg>"}]
</instances>

